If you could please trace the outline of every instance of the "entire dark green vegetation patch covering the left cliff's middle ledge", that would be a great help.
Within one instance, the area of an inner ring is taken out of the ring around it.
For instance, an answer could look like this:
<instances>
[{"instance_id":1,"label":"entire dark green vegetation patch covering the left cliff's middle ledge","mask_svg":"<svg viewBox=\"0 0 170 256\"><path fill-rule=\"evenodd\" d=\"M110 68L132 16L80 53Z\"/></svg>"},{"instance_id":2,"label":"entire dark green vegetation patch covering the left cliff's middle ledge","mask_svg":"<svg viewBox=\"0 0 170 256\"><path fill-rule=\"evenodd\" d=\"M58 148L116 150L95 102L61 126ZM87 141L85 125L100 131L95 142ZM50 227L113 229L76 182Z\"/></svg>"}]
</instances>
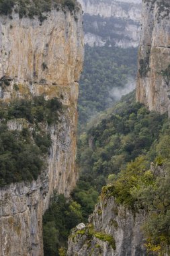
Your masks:
<instances>
[{"instance_id":1,"label":"entire dark green vegetation patch covering the left cliff's middle ledge","mask_svg":"<svg viewBox=\"0 0 170 256\"><path fill-rule=\"evenodd\" d=\"M44 126L58 121L62 105L57 98L44 96L14 100L0 106L0 186L17 181L36 180L51 145ZM9 129L17 123L22 129Z\"/></svg>"}]
</instances>

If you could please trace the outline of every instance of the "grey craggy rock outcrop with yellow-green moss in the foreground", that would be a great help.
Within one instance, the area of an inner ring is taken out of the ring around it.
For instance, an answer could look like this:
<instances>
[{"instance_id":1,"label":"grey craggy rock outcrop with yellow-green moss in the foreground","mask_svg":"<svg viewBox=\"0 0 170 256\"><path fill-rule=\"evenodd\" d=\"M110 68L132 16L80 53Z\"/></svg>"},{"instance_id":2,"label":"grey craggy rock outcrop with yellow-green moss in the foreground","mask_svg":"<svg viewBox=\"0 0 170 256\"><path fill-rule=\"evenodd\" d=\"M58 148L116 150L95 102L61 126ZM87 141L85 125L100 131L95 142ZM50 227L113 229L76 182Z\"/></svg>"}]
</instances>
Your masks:
<instances>
[{"instance_id":1,"label":"grey craggy rock outcrop with yellow-green moss in the foreground","mask_svg":"<svg viewBox=\"0 0 170 256\"><path fill-rule=\"evenodd\" d=\"M67 256L146 256L140 232L143 220L144 213L134 216L116 205L114 197L102 199L89 217L89 224L73 231Z\"/></svg>"}]
</instances>

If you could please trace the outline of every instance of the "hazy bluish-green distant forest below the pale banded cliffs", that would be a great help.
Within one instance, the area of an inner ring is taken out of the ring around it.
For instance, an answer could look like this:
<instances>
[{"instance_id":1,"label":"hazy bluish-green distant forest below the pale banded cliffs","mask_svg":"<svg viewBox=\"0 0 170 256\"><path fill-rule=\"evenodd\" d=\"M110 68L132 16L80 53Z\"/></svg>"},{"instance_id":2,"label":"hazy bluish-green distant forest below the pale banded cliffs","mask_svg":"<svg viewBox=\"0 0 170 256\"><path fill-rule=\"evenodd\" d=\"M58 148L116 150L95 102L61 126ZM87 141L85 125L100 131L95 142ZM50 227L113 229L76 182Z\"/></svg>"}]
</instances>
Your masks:
<instances>
[{"instance_id":1,"label":"hazy bluish-green distant forest below the pale banded cliffs","mask_svg":"<svg viewBox=\"0 0 170 256\"><path fill-rule=\"evenodd\" d=\"M113 88L126 88L136 77L138 49L85 45L85 62L79 83L79 128L92 116L112 106ZM120 95L121 96L121 95Z\"/></svg>"}]
</instances>

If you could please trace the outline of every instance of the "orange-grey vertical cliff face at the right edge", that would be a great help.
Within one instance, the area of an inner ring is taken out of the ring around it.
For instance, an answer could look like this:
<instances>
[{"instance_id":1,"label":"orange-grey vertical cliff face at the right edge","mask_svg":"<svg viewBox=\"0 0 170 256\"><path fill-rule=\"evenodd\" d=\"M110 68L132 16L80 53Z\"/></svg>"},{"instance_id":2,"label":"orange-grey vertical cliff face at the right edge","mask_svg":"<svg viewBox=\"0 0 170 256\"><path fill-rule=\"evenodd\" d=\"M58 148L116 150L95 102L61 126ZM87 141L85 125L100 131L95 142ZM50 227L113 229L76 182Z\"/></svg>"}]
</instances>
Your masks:
<instances>
[{"instance_id":1,"label":"orange-grey vertical cliff face at the right edge","mask_svg":"<svg viewBox=\"0 0 170 256\"><path fill-rule=\"evenodd\" d=\"M160 113L170 110L169 11L168 0L143 1L142 4L136 100Z\"/></svg>"}]
</instances>

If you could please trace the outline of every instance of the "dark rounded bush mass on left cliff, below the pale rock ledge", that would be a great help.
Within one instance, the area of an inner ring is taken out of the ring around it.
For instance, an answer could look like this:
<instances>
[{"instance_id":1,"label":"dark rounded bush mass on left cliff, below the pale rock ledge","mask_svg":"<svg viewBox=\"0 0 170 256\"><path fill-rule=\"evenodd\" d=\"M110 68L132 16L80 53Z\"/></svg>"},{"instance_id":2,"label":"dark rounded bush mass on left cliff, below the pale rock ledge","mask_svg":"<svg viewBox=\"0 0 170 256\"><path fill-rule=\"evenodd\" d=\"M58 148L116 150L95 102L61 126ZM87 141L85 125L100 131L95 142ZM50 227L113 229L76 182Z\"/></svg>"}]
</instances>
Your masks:
<instances>
[{"instance_id":1,"label":"dark rounded bush mass on left cliff, below the pale rock ledge","mask_svg":"<svg viewBox=\"0 0 170 256\"><path fill-rule=\"evenodd\" d=\"M21 131L0 127L0 186L37 179L43 166L42 152Z\"/></svg>"}]
</instances>

